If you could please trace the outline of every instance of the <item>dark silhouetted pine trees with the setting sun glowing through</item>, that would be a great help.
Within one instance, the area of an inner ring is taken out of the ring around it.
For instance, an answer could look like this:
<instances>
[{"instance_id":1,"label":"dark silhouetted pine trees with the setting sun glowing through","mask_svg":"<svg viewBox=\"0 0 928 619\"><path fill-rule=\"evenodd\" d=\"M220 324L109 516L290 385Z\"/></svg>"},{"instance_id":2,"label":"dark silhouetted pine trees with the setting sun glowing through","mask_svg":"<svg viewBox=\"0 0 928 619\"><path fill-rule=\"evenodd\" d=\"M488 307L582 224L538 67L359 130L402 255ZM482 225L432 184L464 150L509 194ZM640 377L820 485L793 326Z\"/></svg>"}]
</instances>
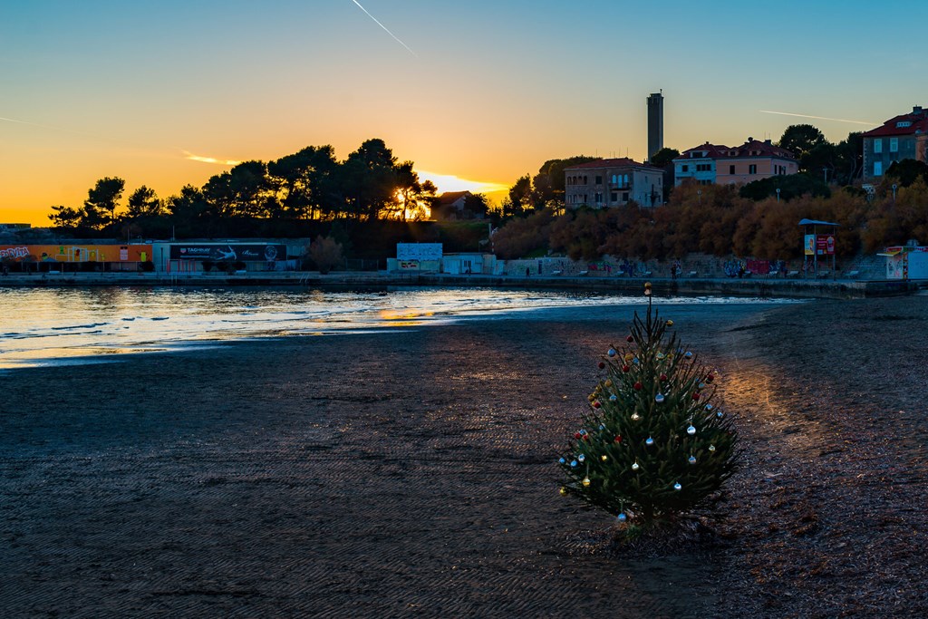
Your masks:
<instances>
[{"instance_id":1,"label":"dark silhouetted pine trees with the setting sun glowing through","mask_svg":"<svg viewBox=\"0 0 928 619\"><path fill-rule=\"evenodd\" d=\"M307 147L277 161L244 161L203 187L187 185L165 200L150 187L133 191L124 206L125 181L106 177L81 207L52 207L58 228L117 234L155 223L208 230L223 219L419 220L436 187L421 181L412 161L398 161L383 140L369 139L344 161L331 146Z\"/></svg>"}]
</instances>

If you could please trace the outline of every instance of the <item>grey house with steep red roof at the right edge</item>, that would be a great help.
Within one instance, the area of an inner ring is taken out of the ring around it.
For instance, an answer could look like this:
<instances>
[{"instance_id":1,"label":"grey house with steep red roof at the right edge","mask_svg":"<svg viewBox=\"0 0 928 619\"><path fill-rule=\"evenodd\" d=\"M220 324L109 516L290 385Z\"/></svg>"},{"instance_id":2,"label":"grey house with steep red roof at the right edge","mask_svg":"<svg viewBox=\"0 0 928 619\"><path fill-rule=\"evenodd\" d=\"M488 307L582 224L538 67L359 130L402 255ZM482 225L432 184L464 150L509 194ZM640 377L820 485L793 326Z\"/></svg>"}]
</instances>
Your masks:
<instances>
[{"instance_id":1,"label":"grey house with steep red roof at the right edge","mask_svg":"<svg viewBox=\"0 0 928 619\"><path fill-rule=\"evenodd\" d=\"M893 161L913 159L928 163L928 110L889 119L863 135L864 182L879 181Z\"/></svg>"}]
</instances>

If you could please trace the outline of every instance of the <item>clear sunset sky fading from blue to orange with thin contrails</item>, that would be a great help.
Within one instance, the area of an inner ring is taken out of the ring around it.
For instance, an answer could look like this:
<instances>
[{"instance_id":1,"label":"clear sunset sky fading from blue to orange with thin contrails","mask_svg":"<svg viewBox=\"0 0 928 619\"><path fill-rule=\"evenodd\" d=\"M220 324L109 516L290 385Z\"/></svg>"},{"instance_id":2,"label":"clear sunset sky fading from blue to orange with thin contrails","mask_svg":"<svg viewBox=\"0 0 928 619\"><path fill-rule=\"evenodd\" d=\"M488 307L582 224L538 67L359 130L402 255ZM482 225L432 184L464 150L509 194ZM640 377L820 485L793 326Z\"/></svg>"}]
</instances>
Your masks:
<instances>
[{"instance_id":1,"label":"clear sunset sky fading from blue to orange with thin contrails","mask_svg":"<svg viewBox=\"0 0 928 619\"><path fill-rule=\"evenodd\" d=\"M30 0L0 14L0 223L46 226L106 176L166 198L236 161L326 144L342 160L374 137L440 191L492 192L550 159L643 161L660 90L678 150L795 123L837 142L928 106L924 0Z\"/></svg>"}]
</instances>

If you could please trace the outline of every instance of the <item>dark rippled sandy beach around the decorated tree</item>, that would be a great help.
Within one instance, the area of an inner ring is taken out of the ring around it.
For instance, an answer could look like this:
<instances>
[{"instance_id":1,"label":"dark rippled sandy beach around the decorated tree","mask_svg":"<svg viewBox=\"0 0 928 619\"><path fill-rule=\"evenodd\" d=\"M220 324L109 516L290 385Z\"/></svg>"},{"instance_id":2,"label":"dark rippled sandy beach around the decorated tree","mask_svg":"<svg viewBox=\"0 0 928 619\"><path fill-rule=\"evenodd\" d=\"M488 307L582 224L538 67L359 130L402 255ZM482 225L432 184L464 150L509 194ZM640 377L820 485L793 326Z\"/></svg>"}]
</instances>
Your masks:
<instances>
[{"instance_id":1,"label":"dark rippled sandy beach around the decorated tree","mask_svg":"<svg viewBox=\"0 0 928 619\"><path fill-rule=\"evenodd\" d=\"M928 297L674 306L744 467L622 555L555 450L630 311L0 374L8 617L928 615Z\"/></svg>"}]
</instances>

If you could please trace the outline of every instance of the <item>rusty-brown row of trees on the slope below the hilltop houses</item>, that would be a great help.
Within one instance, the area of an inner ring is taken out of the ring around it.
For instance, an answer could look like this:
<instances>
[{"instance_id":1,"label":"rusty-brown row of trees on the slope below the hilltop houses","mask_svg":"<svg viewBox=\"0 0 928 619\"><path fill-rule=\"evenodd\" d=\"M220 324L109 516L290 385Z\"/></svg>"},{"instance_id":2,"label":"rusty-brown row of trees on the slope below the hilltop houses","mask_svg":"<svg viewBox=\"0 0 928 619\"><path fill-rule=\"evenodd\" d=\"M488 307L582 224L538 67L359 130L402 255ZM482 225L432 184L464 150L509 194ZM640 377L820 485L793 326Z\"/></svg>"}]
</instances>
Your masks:
<instances>
[{"instance_id":1,"label":"rusty-brown row of trees on the slope below the hilltop houses","mask_svg":"<svg viewBox=\"0 0 928 619\"><path fill-rule=\"evenodd\" d=\"M743 197L739 187L685 185L658 208L629 204L567 213L545 208L497 230L494 250L506 259L548 251L574 260L664 259L700 251L782 260L802 255L798 222L804 218L837 223L837 251L843 256L928 239L928 167L910 184L895 172L890 168L872 199L848 188L828 196L755 201Z\"/></svg>"}]
</instances>

